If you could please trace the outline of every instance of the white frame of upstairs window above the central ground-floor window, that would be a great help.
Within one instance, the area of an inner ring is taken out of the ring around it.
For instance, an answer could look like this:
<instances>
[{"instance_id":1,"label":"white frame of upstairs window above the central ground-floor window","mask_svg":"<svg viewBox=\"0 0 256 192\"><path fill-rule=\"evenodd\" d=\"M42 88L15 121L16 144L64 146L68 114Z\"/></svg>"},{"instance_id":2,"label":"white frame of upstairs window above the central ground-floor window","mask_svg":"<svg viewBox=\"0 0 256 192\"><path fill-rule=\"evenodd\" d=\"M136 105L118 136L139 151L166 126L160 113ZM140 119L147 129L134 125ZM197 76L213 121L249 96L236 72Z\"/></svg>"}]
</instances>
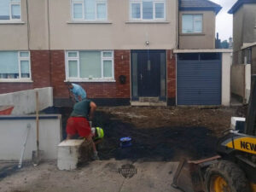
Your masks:
<instances>
[{"instance_id":1,"label":"white frame of upstairs window above the central ground-floor window","mask_svg":"<svg viewBox=\"0 0 256 192\"><path fill-rule=\"evenodd\" d=\"M83 12L82 12L82 18L81 19L75 19L73 17L74 13L73 13L73 4L75 3L82 3L83 6ZM105 3L106 4L106 18L105 19L98 19L97 18L97 4L102 4ZM71 4L71 13L72 13L72 20L74 21L107 21L108 20L108 0L95 0L95 20L87 20L85 18L85 3L84 0L70 0L70 4Z\"/></svg>"}]
</instances>

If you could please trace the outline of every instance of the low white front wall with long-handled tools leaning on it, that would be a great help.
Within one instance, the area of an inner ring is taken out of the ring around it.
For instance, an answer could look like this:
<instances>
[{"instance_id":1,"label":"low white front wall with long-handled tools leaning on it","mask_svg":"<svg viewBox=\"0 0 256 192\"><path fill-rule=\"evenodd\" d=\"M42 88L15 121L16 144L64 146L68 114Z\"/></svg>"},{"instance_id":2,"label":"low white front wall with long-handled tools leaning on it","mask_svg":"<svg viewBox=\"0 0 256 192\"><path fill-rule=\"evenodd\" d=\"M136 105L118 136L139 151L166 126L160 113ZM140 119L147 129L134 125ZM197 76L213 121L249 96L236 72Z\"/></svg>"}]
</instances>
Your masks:
<instances>
[{"instance_id":1,"label":"low white front wall with long-handled tools leaning on it","mask_svg":"<svg viewBox=\"0 0 256 192\"><path fill-rule=\"evenodd\" d=\"M55 160L57 146L62 140L61 115L40 115L40 117L44 118L39 119L39 148L44 150L43 160ZM24 160L32 160L32 150L37 148L35 115L0 116L0 160L20 159L28 124L31 128L27 137Z\"/></svg>"}]
</instances>

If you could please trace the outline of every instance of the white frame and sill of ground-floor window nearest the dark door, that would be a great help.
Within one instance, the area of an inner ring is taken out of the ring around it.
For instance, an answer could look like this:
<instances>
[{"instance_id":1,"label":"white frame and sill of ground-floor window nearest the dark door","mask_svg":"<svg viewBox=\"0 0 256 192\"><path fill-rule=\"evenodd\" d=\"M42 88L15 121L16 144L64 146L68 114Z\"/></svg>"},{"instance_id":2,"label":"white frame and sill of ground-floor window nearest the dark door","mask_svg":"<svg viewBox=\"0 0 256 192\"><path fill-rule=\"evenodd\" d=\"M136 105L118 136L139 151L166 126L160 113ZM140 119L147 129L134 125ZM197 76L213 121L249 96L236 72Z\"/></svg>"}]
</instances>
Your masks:
<instances>
[{"instance_id":1,"label":"white frame and sill of ground-floor window nearest the dark door","mask_svg":"<svg viewBox=\"0 0 256 192\"><path fill-rule=\"evenodd\" d=\"M101 67L102 67L102 73L101 78L80 78L80 52L81 51L99 51L101 52ZM68 53L77 53L77 57L69 57ZM111 53L111 57L104 57L104 53ZM114 82L114 52L113 50L67 50L66 51L66 61L65 61L65 69L66 69L66 81L73 81L73 82ZM68 61L77 61L78 63L78 77L69 77L69 66ZM104 77L104 61L112 61L112 77Z\"/></svg>"}]
</instances>

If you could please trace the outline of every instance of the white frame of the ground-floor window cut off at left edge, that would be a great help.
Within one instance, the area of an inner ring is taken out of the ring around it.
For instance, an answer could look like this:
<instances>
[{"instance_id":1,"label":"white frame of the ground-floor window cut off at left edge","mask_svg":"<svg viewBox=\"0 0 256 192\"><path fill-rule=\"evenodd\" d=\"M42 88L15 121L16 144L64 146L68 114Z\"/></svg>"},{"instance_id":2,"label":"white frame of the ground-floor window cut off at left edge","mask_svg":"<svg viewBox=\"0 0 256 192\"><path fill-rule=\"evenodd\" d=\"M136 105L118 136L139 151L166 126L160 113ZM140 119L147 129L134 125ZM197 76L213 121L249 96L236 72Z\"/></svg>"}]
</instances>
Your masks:
<instances>
[{"instance_id":1,"label":"white frame of the ground-floor window cut off at left edge","mask_svg":"<svg viewBox=\"0 0 256 192\"><path fill-rule=\"evenodd\" d=\"M12 51L12 50L9 50ZM3 51L3 52L9 52L9 51ZM31 82L32 81L32 71L31 71L31 55L29 50L20 50L16 51L18 54L18 68L19 68L19 78L16 79L3 79L0 78L0 82L15 82L15 81L24 81L24 82ZM27 57L20 56L20 53L28 53ZM28 61L28 72L29 72L29 78L22 78L21 77L21 61Z\"/></svg>"}]
</instances>

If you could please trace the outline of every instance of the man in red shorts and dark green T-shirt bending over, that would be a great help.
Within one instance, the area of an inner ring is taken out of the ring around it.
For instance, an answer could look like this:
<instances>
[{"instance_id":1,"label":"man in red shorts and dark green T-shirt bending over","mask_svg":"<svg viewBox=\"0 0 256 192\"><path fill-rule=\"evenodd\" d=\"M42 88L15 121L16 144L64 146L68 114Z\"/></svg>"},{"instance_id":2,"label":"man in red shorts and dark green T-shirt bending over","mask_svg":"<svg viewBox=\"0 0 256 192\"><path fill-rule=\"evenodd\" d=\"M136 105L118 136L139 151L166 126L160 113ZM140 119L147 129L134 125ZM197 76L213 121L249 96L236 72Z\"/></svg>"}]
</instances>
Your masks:
<instances>
[{"instance_id":1,"label":"man in red shorts and dark green T-shirt bending over","mask_svg":"<svg viewBox=\"0 0 256 192\"><path fill-rule=\"evenodd\" d=\"M67 140L72 139L77 133L79 137L84 137L88 142L92 142L93 159L99 159L96 151L96 145L92 140L93 134L91 133L89 119L93 119L94 112L96 110L96 104L90 100L84 99L81 102L77 102L73 106L73 112L70 118L67 119Z\"/></svg>"}]
</instances>

